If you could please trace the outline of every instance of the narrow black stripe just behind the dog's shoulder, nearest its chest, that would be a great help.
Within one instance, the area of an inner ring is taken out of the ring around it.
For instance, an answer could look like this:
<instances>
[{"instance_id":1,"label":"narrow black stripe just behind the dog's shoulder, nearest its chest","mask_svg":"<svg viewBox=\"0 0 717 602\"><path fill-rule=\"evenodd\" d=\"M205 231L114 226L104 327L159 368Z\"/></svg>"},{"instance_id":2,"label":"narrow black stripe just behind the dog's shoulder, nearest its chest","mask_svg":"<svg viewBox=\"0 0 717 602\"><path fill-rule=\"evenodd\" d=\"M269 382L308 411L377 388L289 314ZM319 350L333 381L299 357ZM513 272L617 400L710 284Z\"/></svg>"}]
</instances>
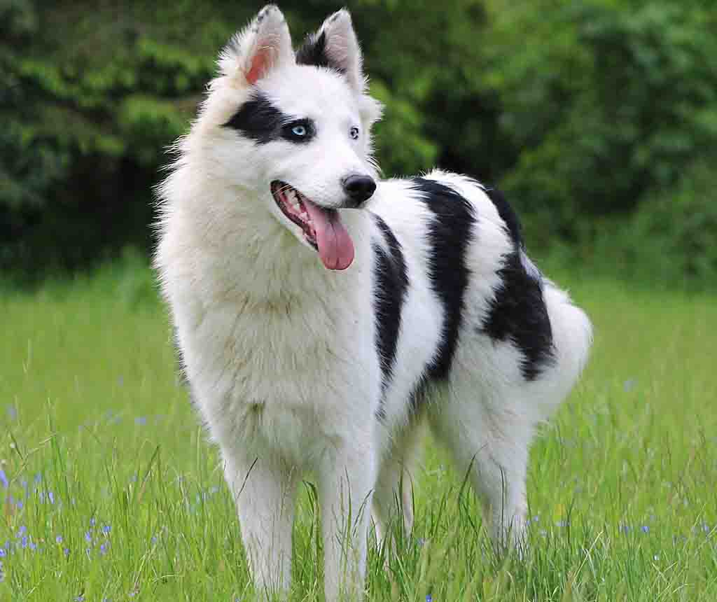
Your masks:
<instances>
[{"instance_id":1,"label":"narrow black stripe just behind the dog's shoulder, nearest its chest","mask_svg":"<svg viewBox=\"0 0 717 602\"><path fill-rule=\"evenodd\" d=\"M376 349L381 364L381 398L383 398L383 393L393 377L394 363L396 362L396 350L401 330L401 312L408 289L408 272L401 243L398 242L393 231L383 219L377 215L374 215L374 219L389 249L389 252L386 253L381 244L374 242L376 255L376 264L374 265ZM376 414L379 419L386 417L382 403Z\"/></svg>"}]
</instances>

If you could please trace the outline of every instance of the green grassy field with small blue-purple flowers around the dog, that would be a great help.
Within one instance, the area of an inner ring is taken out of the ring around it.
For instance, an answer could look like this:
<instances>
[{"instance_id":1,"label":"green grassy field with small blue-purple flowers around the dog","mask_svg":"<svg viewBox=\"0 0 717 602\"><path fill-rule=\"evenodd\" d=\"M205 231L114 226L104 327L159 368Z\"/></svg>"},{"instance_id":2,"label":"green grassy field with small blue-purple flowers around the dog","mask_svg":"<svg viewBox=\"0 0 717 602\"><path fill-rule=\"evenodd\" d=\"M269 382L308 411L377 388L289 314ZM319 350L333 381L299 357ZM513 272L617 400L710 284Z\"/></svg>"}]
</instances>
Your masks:
<instances>
[{"instance_id":1,"label":"green grassy field with small blue-purple flowers around the dog","mask_svg":"<svg viewBox=\"0 0 717 602\"><path fill-rule=\"evenodd\" d=\"M596 325L533 446L531 551L496 560L429 445L412 541L369 600L717 600L717 300L557 278ZM0 297L0 601L250 601L217 454L143 269ZM291 599L321 599L310 484ZM430 596L430 598L427 598Z\"/></svg>"}]
</instances>

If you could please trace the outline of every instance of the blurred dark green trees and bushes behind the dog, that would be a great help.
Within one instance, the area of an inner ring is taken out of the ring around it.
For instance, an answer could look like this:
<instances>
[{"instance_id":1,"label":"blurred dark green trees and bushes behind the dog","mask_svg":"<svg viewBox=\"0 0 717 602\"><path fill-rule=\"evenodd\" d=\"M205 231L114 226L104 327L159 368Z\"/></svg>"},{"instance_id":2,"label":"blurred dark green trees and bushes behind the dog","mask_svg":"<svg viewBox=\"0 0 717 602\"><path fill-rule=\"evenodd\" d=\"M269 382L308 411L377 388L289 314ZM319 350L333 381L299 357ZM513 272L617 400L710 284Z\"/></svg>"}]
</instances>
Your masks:
<instances>
[{"instance_id":1,"label":"blurred dark green trees and bushes behind the dog","mask_svg":"<svg viewBox=\"0 0 717 602\"><path fill-rule=\"evenodd\" d=\"M295 43L343 3L280 2ZM389 175L497 183L531 249L717 282L712 0L356 0ZM260 3L0 0L0 269L151 247L151 186Z\"/></svg>"}]
</instances>

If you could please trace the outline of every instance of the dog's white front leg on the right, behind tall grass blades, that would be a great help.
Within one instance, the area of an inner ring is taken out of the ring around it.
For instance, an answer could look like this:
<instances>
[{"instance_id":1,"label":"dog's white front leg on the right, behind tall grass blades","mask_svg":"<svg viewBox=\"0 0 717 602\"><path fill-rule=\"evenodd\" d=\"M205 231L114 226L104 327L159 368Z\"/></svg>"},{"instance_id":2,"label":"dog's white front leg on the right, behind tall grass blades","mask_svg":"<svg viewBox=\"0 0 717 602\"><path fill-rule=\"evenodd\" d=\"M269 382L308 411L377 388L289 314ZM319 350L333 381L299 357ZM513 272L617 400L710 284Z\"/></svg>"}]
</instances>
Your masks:
<instances>
[{"instance_id":1,"label":"dog's white front leg on the right, behind tall grass blades","mask_svg":"<svg viewBox=\"0 0 717 602\"><path fill-rule=\"evenodd\" d=\"M363 596L366 537L376 481L376 454L367 439L345 441L331 449L320 467L326 602Z\"/></svg>"}]
</instances>

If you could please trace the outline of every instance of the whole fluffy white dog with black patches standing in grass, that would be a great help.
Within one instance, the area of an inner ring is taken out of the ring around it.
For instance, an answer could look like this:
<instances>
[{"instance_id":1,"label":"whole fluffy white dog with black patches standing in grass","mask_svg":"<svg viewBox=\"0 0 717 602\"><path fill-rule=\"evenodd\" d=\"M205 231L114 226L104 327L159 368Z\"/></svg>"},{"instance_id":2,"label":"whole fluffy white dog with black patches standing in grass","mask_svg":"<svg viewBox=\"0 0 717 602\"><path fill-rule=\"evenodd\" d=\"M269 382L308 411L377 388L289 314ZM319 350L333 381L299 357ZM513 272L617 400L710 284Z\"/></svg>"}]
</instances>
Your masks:
<instances>
[{"instance_id":1,"label":"whole fluffy white dog with black patches standing in grass","mask_svg":"<svg viewBox=\"0 0 717 602\"><path fill-rule=\"evenodd\" d=\"M423 423L470 471L495 542L520 543L528 447L587 360L586 315L528 259L498 191L379 180L381 107L346 10L294 52L266 6L219 70L160 188L156 267L257 588L290 586L312 472L326 598L359 593L364 508L379 534L412 527Z\"/></svg>"}]
</instances>

